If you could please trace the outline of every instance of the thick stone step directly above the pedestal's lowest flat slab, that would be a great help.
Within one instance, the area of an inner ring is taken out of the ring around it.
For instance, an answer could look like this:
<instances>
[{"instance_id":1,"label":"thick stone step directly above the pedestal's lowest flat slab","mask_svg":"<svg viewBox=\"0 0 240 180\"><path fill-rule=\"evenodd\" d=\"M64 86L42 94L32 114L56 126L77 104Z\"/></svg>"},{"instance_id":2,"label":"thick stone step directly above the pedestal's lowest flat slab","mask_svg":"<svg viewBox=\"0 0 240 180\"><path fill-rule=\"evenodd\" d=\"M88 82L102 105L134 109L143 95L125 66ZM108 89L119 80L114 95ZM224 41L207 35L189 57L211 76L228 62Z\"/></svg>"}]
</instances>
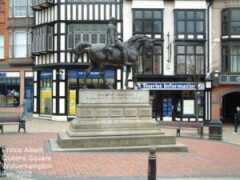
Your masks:
<instances>
[{"instance_id":1,"label":"thick stone step directly above the pedestal's lowest flat slab","mask_svg":"<svg viewBox=\"0 0 240 180\"><path fill-rule=\"evenodd\" d=\"M176 138L162 134L70 137L59 133L57 142L61 148L102 148L176 144Z\"/></svg>"}]
</instances>

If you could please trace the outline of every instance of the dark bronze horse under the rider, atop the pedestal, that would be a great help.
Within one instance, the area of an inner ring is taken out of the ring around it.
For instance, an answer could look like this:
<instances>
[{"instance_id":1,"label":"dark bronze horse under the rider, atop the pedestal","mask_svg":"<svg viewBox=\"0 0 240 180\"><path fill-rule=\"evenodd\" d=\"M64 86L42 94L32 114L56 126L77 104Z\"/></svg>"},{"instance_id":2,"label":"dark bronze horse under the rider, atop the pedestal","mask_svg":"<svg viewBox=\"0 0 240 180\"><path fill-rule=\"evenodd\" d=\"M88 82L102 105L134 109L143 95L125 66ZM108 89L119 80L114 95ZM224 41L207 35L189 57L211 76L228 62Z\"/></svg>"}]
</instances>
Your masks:
<instances>
[{"instance_id":1,"label":"dark bronze horse under the rider, atop the pedestal","mask_svg":"<svg viewBox=\"0 0 240 180\"><path fill-rule=\"evenodd\" d=\"M106 66L111 66L114 68L122 68L126 66L126 77L129 77L129 73L131 72L132 67L133 77L135 81L136 79L134 75L137 73L138 56L140 53L143 53L143 55L148 57L151 56L154 41L155 40L144 35L135 35L128 41L122 43L123 48L125 48L127 51L127 63L123 60L123 54L119 48L113 46L110 48L111 50L109 50L106 49L105 44L89 44L80 42L76 45L72 52L75 54L75 62L77 62L78 58L84 53L87 53L90 59L91 64L86 70L87 73L85 77L85 85L86 78L94 68L99 68L100 72L102 72L102 78L104 84L106 85L103 73Z\"/></svg>"}]
</instances>

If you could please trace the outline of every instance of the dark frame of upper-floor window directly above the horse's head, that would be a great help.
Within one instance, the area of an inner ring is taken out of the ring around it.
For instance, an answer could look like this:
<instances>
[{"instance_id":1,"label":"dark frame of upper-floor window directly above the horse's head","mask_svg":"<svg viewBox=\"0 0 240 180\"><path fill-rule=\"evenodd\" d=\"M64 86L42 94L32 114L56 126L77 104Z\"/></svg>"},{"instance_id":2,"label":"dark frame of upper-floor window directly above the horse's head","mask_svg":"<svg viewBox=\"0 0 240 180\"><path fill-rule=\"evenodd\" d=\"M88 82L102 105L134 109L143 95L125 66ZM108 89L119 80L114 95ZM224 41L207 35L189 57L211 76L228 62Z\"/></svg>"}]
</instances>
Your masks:
<instances>
[{"instance_id":1,"label":"dark frame of upper-floor window directly above the horse's head","mask_svg":"<svg viewBox=\"0 0 240 180\"><path fill-rule=\"evenodd\" d=\"M137 11L141 11L142 14L143 14L143 17L142 18L137 18L136 17L136 12ZM151 12L151 18L144 18L144 12ZM154 18L154 12L160 12L161 13L161 18ZM146 9L146 8L134 8L132 10L132 14L133 14L133 35L135 34L145 34L145 35L150 35L152 38L157 38L157 39L163 39L163 31L164 31L164 10L159 8L159 9ZM140 32L137 32L136 31L136 25L135 25L135 22L136 21L139 21L139 22L142 22L142 31ZM161 21L161 30L160 32L155 32L154 31L154 22L156 21ZM145 22L149 22L151 23L151 32L146 32L145 29L144 29L144 23ZM159 37L160 35L160 37Z\"/></svg>"}]
</instances>

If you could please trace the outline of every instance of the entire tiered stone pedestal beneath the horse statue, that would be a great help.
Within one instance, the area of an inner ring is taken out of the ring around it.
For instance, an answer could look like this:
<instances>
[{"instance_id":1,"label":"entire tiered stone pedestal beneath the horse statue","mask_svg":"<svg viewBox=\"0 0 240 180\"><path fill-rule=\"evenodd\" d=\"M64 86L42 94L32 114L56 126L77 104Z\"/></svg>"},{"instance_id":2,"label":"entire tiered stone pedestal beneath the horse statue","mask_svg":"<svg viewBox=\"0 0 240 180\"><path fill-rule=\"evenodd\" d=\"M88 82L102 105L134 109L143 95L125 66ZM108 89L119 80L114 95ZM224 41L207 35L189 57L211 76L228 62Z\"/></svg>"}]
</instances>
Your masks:
<instances>
[{"instance_id":1,"label":"entire tiered stone pedestal beneath the horse statue","mask_svg":"<svg viewBox=\"0 0 240 180\"><path fill-rule=\"evenodd\" d=\"M148 91L81 90L77 118L50 140L53 151L187 151L152 119Z\"/></svg>"}]
</instances>

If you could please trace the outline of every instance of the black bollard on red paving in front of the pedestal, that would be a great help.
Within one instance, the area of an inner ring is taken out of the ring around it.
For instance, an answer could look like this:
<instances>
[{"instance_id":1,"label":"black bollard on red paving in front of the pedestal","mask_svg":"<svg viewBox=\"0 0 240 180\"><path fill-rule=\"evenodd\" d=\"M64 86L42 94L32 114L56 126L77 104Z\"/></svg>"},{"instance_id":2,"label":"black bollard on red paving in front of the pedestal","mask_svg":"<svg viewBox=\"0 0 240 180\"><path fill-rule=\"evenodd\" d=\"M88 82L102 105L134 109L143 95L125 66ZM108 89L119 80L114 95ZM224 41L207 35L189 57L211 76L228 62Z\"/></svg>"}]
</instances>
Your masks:
<instances>
[{"instance_id":1,"label":"black bollard on red paving in front of the pedestal","mask_svg":"<svg viewBox=\"0 0 240 180\"><path fill-rule=\"evenodd\" d=\"M148 180L156 180L156 149L151 148L148 157Z\"/></svg>"}]
</instances>

